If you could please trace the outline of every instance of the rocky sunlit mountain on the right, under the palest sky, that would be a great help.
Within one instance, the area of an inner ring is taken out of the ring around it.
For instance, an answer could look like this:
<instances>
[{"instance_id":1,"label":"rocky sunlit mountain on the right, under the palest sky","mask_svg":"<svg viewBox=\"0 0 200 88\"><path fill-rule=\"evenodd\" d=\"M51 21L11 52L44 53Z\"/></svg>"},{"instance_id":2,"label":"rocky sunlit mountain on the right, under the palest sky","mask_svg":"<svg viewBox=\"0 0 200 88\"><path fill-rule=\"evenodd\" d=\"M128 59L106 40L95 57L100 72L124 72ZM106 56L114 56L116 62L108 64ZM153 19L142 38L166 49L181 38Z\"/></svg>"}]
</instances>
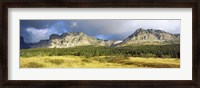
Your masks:
<instances>
[{"instance_id":1,"label":"rocky sunlit mountain on the right, under the palest sky","mask_svg":"<svg viewBox=\"0 0 200 88\"><path fill-rule=\"evenodd\" d=\"M179 44L180 34L171 34L162 30L156 29L137 29L133 34L124 39L117 46L126 45L164 45L164 44Z\"/></svg>"}]
</instances>

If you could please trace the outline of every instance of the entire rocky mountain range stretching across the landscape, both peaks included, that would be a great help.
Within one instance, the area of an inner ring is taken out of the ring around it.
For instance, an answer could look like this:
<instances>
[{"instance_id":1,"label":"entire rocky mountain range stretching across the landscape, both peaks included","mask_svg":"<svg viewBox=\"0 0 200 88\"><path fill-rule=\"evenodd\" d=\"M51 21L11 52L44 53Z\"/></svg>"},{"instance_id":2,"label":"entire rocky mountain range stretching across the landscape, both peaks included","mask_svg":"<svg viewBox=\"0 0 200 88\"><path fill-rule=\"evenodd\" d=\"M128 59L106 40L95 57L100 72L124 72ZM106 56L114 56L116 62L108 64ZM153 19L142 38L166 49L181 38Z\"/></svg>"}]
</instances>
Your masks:
<instances>
[{"instance_id":1,"label":"entire rocky mountain range stretching across the landscape, both peaks included","mask_svg":"<svg viewBox=\"0 0 200 88\"><path fill-rule=\"evenodd\" d=\"M133 34L123 41L103 40L88 36L83 32L52 34L48 40L41 40L38 43L25 43L20 37L20 48L68 48L76 46L128 46L128 45L165 45L179 44L180 34L172 34L157 29L137 29Z\"/></svg>"}]
</instances>

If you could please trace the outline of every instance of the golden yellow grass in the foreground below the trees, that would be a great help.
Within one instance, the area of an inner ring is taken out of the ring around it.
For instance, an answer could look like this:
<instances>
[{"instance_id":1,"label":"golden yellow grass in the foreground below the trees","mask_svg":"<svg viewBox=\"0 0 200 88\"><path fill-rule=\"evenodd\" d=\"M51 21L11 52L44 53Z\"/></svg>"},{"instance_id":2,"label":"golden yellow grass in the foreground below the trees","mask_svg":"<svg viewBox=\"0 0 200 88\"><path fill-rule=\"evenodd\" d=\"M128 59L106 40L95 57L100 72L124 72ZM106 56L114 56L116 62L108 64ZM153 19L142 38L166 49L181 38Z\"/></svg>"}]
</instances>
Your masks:
<instances>
[{"instance_id":1,"label":"golden yellow grass in the foreground below the trees","mask_svg":"<svg viewBox=\"0 0 200 88\"><path fill-rule=\"evenodd\" d=\"M143 58L107 60L110 57L79 56L20 57L20 68L179 68L178 58Z\"/></svg>"}]
</instances>

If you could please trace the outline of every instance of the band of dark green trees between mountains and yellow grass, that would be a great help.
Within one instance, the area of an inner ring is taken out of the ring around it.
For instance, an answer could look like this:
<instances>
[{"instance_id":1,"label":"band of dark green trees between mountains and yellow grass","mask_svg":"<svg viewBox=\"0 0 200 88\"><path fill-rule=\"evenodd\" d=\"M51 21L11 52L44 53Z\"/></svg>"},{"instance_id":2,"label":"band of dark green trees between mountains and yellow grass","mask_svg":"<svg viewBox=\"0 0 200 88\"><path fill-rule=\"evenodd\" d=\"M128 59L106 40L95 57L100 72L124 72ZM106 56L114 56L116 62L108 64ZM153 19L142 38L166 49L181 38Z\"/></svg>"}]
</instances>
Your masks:
<instances>
[{"instance_id":1,"label":"band of dark green trees between mountains and yellow grass","mask_svg":"<svg viewBox=\"0 0 200 88\"><path fill-rule=\"evenodd\" d=\"M180 58L180 45L140 45L123 47L79 46L70 48L34 48L21 49L20 56L126 56L126 57L161 57Z\"/></svg>"}]
</instances>

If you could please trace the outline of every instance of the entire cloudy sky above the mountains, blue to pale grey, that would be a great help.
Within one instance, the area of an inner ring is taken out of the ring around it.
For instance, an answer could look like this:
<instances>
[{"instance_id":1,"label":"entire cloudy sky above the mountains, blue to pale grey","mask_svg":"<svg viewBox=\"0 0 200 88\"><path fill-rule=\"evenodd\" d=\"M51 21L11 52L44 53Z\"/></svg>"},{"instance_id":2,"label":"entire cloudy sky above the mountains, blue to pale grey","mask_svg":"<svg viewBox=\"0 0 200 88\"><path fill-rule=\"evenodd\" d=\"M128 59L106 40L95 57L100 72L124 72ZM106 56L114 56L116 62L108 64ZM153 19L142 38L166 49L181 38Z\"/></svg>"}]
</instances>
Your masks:
<instances>
[{"instance_id":1,"label":"entire cloudy sky above the mountains, blue to pale grey","mask_svg":"<svg viewBox=\"0 0 200 88\"><path fill-rule=\"evenodd\" d=\"M180 20L20 20L20 36L26 43L49 39L51 34L84 32L104 40L123 40L139 28L180 34Z\"/></svg>"}]
</instances>

